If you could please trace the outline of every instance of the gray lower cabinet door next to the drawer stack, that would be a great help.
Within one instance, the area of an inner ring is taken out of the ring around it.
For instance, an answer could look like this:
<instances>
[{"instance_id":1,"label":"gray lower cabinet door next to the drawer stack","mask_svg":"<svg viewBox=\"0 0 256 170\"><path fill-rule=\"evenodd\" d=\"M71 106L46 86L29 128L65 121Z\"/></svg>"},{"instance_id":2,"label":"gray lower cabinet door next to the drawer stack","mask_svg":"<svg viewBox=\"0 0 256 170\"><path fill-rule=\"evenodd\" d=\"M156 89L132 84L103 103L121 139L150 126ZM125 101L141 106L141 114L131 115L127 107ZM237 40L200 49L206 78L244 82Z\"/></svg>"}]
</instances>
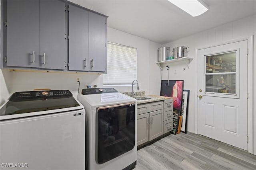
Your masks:
<instances>
[{"instance_id":1,"label":"gray lower cabinet door next to the drawer stack","mask_svg":"<svg viewBox=\"0 0 256 170\"><path fill-rule=\"evenodd\" d=\"M163 109L149 113L149 140L163 135Z\"/></svg>"}]
</instances>

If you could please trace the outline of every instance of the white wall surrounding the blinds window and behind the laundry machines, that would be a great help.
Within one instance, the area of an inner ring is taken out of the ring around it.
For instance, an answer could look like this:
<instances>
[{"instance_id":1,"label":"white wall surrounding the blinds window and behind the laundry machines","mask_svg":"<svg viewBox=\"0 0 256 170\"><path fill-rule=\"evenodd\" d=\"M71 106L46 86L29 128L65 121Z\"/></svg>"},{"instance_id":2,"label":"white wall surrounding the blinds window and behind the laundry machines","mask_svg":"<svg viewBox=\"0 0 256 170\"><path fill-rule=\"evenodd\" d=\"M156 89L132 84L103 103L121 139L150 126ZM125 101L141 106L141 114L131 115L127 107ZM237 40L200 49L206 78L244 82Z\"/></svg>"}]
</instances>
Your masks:
<instances>
[{"instance_id":1,"label":"white wall surrounding the blinds window and behind the laundry machines","mask_svg":"<svg viewBox=\"0 0 256 170\"><path fill-rule=\"evenodd\" d=\"M157 53L150 54L150 48L155 51L160 44L150 42L148 39L140 38L116 29L108 27L108 41L119 43L130 47L137 48L137 80L140 85L140 91L145 91L146 94L155 93L155 86L160 86L160 81L153 81L150 79L150 72L155 76L160 75L160 68L156 65ZM0 99L7 100L8 96L13 92L33 90L38 88L50 89L68 89L76 96L78 91L78 82L76 77L79 76L80 89L86 88L86 85L96 84L98 87L102 86L102 75L98 74L74 74L74 73L47 73L47 72L18 72L2 70L0 71ZM159 76L158 76L159 77ZM132 82L131 82L132 84ZM108 86L109 87L109 86ZM113 87L113 86L111 86ZM114 86L119 92L130 92L132 87L129 86ZM152 89L152 90L150 90ZM0 104L2 104L1 102Z\"/></svg>"}]
</instances>

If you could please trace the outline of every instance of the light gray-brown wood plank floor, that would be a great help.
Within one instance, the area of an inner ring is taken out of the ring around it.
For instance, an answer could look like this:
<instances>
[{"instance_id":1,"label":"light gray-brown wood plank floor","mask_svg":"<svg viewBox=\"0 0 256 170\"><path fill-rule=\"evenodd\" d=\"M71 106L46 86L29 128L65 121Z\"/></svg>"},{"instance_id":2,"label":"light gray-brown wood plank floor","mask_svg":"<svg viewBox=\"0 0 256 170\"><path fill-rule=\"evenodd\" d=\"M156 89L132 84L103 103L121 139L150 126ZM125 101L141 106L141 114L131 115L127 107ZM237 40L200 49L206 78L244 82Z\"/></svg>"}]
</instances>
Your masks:
<instances>
[{"instance_id":1,"label":"light gray-brown wood plank floor","mask_svg":"<svg viewBox=\"0 0 256 170\"><path fill-rule=\"evenodd\" d=\"M169 135L138 150L134 170L256 170L256 156L196 135Z\"/></svg>"}]
</instances>

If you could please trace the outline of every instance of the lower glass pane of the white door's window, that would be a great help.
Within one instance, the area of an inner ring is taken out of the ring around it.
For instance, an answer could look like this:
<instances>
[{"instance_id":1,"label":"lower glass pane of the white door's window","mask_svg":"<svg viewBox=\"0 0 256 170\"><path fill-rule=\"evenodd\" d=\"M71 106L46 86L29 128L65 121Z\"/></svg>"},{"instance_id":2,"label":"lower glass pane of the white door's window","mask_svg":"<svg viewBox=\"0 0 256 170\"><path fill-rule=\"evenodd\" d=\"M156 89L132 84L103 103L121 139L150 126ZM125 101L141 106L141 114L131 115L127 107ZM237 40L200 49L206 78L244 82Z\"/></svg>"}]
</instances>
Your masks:
<instances>
[{"instance_id":1,"label":"lower glass pane of the white door's window","mask_svg":"<svg viewBox=\"0 0 256 170\"><path fill-rule=\"evenodd\" d=\"M205 92L236 94L236 74L206 75Z\"/></svg>"}]
</instances>

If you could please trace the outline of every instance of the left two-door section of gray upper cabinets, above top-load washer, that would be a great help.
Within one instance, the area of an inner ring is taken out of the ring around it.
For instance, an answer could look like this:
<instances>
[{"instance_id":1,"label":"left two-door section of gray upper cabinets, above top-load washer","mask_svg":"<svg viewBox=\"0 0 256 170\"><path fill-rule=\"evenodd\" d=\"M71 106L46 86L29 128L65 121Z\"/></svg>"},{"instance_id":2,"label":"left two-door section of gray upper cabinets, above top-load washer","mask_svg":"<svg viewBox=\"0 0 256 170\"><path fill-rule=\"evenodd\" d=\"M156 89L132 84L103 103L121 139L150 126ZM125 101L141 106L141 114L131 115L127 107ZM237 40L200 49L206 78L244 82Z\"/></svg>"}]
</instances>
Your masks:
<instances>
[{"instance_id":1,"label":"left two-door section of gray upper cabinets, above top-load washer","mask_svg":"<svg viewBox=\"0 0 256 170\"><path fill-rule=\"evenodd\" d=\"M64 70L65 3L7 1L7 66Z\"/></svg>"}]
</instances>

